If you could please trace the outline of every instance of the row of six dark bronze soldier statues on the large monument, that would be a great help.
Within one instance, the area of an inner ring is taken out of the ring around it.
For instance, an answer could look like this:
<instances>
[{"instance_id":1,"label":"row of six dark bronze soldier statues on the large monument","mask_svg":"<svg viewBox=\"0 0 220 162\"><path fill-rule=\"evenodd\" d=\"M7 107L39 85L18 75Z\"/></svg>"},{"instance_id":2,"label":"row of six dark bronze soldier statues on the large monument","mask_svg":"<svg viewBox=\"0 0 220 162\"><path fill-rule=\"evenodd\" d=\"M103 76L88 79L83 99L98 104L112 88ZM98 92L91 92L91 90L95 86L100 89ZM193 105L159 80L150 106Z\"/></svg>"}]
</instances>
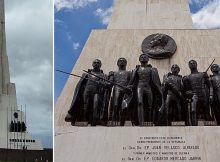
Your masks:
<instances>
[{"instance_id":1,"label":"row of six dark bronze soldier statues on the large monument","mask_svg":"<svg viewBox=\"0 0 220 162\"><path fill-rule=\"evenodd\" d=\"M170 126L184 121L197 126L199 120L217 121L220 125L220 68L211 66L213 75L198 72L197 62L189 61L191 74L182 77L180 67L173 65L161 83L157 68L148 64L146 54L140 65L127 71L127 60L119 58L118 71L108 75L101 61L85 71L78 82L65 121L81 126ZM83 124L82 124L83 123Z\"/></svg>"}]
</instances>

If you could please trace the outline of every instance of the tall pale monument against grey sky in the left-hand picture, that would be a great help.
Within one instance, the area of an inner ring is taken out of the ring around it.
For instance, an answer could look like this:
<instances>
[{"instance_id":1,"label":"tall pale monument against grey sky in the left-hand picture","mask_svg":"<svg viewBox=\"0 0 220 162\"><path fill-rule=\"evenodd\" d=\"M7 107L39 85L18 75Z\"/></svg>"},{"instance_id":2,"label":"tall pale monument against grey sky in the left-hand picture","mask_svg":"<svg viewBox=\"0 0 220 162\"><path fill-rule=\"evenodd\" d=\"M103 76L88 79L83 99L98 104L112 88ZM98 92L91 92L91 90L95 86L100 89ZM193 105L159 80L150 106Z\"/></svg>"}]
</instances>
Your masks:
<instances>
[{"instance_id":1,"label":"tall pale monument against grey sky in the left-hand picture","mask_svg":"<svg viewBox=\"0 0 220 162\"><path fill-rule=\"evenodd\" d=\"M0 0L0 148L43 150L41 140L27 131L25 119L25 112L18 109L15 84L10 82L4 0Z\"/></svg>"}]
</instances>

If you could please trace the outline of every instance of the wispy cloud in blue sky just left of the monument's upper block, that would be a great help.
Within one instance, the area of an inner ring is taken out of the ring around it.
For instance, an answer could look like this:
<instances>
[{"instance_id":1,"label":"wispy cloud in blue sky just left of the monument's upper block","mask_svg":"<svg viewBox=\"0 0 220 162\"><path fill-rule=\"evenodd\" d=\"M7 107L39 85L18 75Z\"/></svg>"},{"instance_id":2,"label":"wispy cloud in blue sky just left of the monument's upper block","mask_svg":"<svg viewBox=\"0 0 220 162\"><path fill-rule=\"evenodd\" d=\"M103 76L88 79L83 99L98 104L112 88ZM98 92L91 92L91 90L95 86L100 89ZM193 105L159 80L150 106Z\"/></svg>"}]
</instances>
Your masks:
<instances>
[{"instance_id":1,"label":"wispy cloud in blue sky just left of the monument's upper block","mask_svg":"<svg viewBox=\"0 0 220 162\"><path fill-rule=\"evenodd\" d=\"M107 9L98 8L95 11L95 15L100 17L102 24L107 25L110 21L112 10L113 10L113 7L110 7Z\"/></svg>"}]
</instances>

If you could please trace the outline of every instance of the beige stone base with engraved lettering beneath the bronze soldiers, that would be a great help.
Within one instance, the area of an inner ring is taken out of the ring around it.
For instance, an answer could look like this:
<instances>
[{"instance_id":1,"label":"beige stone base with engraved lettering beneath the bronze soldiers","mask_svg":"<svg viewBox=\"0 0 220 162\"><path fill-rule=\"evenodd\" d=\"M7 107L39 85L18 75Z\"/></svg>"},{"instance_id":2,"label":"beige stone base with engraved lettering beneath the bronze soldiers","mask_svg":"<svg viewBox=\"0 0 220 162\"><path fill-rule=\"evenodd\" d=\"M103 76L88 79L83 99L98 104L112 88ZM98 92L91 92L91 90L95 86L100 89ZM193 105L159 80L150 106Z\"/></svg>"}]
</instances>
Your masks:
<instances>
[{"instance_id":1,"label":"beige stone base with engraved lettering beneath the bronze soldiers","mask_svg":"<svg viewBox=\"0 0 220 162\"><path fill-rule=\"evenodd\" d=\"M199 132L199 134L198 134ZM219 127L58 127L57 162L219 162Z\"/></svg>"}]
</instances>

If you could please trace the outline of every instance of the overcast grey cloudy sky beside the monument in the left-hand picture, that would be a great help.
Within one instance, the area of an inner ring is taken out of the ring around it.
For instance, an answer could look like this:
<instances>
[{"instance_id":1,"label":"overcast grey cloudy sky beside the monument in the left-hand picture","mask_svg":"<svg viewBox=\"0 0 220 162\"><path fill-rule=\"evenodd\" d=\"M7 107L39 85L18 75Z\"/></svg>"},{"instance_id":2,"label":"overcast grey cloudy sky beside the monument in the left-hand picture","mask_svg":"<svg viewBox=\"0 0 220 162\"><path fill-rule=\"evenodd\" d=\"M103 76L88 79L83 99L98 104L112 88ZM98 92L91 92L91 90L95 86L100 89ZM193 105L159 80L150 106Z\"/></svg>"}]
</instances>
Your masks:
<instances>
[{"instance_id":1,"label":"overcast grey cloudy sky beside the monument in the left-hand picture","mask_svg":"<svg viewBox=\"0 0 220 162\"><path fill-rule=\"evenodd\" d=\"M18 106L27 105L27 125L31 134L51 136L53 1L9 0L5 1L5 6L7 52Z\"/></svg>"}]
</instances>

